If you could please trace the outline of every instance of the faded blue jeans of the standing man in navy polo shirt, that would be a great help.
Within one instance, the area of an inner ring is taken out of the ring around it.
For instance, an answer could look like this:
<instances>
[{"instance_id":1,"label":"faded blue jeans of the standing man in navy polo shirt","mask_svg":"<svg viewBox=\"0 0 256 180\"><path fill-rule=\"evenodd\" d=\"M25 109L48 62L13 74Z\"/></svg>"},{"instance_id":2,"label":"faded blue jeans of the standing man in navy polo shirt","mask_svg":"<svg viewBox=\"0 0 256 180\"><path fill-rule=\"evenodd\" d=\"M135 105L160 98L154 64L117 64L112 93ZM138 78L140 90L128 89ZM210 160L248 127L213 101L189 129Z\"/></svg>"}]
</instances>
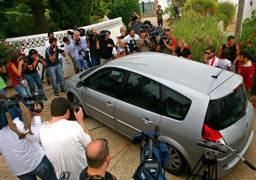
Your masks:
<instances>
[{"instance_id":1,"label":"faded blue jeans of the standing man in navy polo shirt","mask_svg":"<svg viewBox=\"0 0 256 180\"><path fill-rule=\"evenodd\" d=\"M54 93L58 92L58 82L57 82L57 79L56 79L56 74L57 74L58 79L59 79L60 91L65 91L65 80L63 78L61 65L58 64L58 65L55 65L55 66L49 66L48 67L48 73L51 77L53 92Z\"/></svg>"}]
</instances>

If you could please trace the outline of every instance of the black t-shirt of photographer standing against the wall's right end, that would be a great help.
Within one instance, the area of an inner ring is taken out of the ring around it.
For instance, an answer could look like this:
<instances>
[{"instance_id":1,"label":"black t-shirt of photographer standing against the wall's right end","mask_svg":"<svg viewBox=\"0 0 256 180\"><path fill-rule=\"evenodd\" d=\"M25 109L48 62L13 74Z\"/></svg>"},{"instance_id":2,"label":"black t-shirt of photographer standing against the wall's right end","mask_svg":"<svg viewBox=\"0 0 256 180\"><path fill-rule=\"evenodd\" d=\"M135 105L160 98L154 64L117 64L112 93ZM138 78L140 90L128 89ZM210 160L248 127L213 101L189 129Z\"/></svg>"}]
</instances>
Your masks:
<instances>
[{"instance_id":1,"label":"black t-shirt of photographer standing against the wall's right end","mask_svg":"<svg viewBox=\"0 0 256 180\"><path fill-rule=\"evenodd\" d=\"M100 55L99 57L101 59L110 59L112 57L112 47L108 47L108 44L111 44L112 46L115 46L115 43L113 39L109 38L108 40L103 39L102 41L99 42L99 50L100 50ZM91 45L91 44L90 44Z\"/></svg>"}]
</instances>

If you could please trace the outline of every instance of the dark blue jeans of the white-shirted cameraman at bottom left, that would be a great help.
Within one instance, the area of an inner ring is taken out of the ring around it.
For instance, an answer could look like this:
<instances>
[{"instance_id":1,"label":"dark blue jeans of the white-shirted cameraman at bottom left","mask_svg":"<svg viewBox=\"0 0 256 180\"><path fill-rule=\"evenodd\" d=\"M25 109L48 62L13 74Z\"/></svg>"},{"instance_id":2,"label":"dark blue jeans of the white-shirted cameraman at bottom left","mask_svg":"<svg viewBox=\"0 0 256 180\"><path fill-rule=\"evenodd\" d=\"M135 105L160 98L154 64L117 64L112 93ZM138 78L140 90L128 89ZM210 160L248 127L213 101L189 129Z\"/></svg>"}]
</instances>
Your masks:
<instances>
[{"instance_id":1,"label":"dark blue jeans of the white-shirted cameraman at bottom left","mask_svg":"<svg viewBox=\"0 0 256 180\"><path fill-rule=\"evenodd\" d=\"M46 155L44 156L44 158L42 158L41 163L33 171L23 175L17 175L17 177L20 180L36 180L36 175L42 180L57 179L52 163L48 160Z\"/></svg>"}]
</instances>

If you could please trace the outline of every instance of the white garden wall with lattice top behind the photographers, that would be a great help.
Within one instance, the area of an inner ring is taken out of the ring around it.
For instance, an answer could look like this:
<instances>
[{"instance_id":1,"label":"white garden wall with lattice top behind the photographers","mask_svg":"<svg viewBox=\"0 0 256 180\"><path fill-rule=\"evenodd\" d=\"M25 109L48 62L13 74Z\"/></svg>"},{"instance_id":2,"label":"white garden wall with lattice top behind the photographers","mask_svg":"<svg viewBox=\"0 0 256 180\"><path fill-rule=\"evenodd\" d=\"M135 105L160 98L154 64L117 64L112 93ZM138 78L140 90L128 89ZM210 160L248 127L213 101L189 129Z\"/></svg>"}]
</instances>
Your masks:
<instances>
[{"instance_id":1,"label":"white garden wall with lattice top behind the photographers","mask_svg":"<svg viewBox=\"0 0 256 180\"><path fill-rule=\"evenodd\" d=\"M97 24L80 27L80 28L83 28L86 31L91 30L91 29L96 29L97 32L99 32L101 30L109 30L111 32L110 38L112 38L114 40L114 42L116 43L116 36L120 35L120 28L122 26L123 26L122 18L118 17L115 19L99 22ZM59 40L59 42L61 44L65 44L62 41L64 36L69 37L69 39L71 38L71 36L69 36L67 34L67 31L69 31L69 30L54 32L54 36ZM70 31L72 31L72 29ZM37 34L37 35L31 35L31 36L8 38L8 39L6 39L6 42L8 44L14 44L16 41L23 42L25 44L24 53L26 55L28 55L28 52L30 49L36 49L40 55L45 57L45 51L46 51L45 41L47 39L48 39L47 33L45 33L45 34ZM74 75L75 72L74 72L74 68L73 68L73 63L72 63L71 59L69 58L69 56L67 55L66 57L62 57L62 61L63 61L62 64L63 64L64 77L70 77L70 76ZM41 70L42 70L42 65L39 63L39 74L40 75L41 75ZM11 85L11 82L8 81L6 84Z\"/></svg>"}]
</instances>

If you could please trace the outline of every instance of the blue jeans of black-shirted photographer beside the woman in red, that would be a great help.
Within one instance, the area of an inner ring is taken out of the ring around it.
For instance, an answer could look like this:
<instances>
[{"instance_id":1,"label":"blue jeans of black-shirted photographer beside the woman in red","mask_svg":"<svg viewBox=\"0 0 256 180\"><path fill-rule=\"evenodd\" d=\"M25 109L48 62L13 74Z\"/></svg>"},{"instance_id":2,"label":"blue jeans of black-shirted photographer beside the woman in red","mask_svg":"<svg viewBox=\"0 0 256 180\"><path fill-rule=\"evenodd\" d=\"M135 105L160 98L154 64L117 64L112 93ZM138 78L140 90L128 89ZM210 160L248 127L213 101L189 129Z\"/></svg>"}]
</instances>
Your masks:
<instances>
[{"instance_id":1,"label":"blue jeans of black-shirted photographer beside the woman in red","mask_svg":"<svg viewBox=\"0 0 256 180\"><path fill-rule=\"evenodd\" d=\"M35 72L34 74L25 74L24 76L29 84L30 93L35 91L35 83L39 91L44 91L38 72Z\"/></svg>"}]
</instances>

